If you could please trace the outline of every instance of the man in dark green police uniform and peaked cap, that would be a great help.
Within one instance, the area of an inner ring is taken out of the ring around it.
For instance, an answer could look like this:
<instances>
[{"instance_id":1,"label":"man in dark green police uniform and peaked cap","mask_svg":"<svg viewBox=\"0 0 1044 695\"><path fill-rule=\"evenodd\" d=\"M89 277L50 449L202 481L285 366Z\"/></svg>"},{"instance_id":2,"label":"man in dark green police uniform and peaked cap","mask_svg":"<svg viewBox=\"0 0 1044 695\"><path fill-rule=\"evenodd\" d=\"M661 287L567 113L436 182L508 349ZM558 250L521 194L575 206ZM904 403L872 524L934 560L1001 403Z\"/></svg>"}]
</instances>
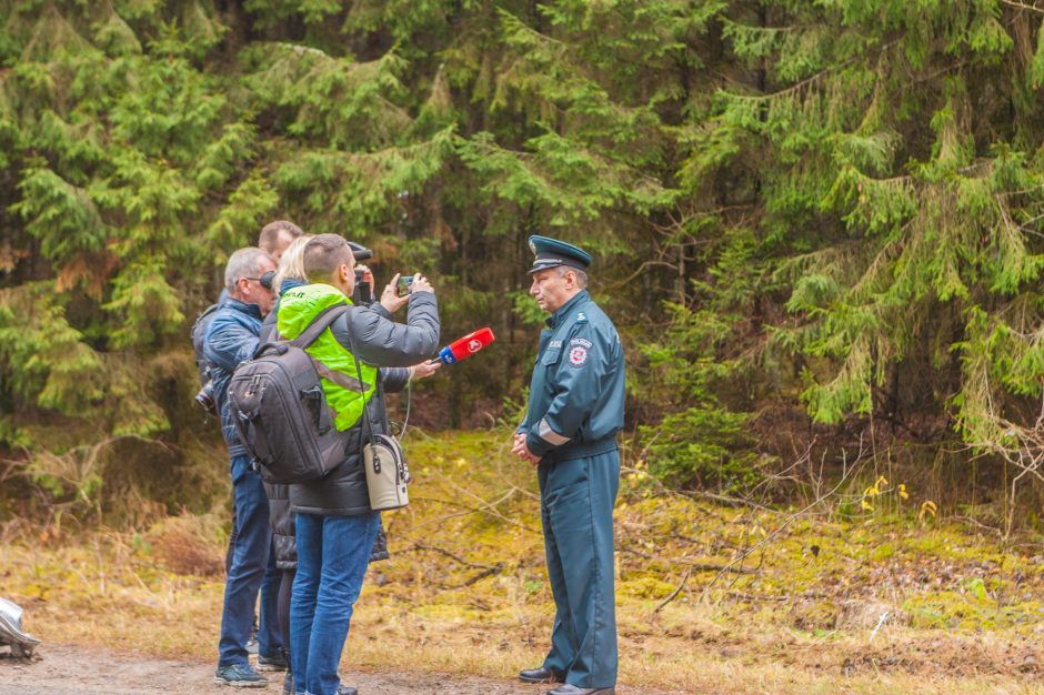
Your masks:
<instances>
[{"instance_id":1,"label":"man in dark green police uniform and peaked cap","mask_svg":"<svg viewBox=\"0 0 1044 695\"><path fill-rule=\"evenodd\" d=\"M551 318L540 334L529 412L512 452L536 465L555 616L543 665L519 677L564 683L549 695L613 695L623 350L613 322L585 289L591 255L544 236L530 236L530 249L536 256L530 294Z\"/></svg>"}]
</instances>

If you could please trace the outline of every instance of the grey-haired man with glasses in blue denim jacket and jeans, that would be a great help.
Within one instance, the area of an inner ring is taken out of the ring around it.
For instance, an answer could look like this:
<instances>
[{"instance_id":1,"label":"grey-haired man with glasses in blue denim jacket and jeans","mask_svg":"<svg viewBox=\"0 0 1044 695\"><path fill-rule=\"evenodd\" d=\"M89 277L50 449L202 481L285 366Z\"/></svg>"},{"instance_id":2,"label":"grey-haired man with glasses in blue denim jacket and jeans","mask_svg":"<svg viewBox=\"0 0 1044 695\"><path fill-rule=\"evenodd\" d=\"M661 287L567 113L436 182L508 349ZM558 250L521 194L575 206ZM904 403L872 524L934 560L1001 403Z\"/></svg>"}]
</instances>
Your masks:
<instances>
[{"instance_id":1,"label":"grey-haired man with glasses in blue denim jacket and jeans","mask_svg":"<svg viewBox=\"0 0 1044 695\"><path fill-rule=\"evenodd\" d=\"M234 545L224 585L221 613L221 642L214 682L240 687L265 687L268 679L250 666L247 642L253 626L258 592L262 595L258 629L260 663L282 663L283 645L274 601L279 573L265 572L272 545L269 505L261 475L250 464L250 455L235 434L228 405L229 383L240 362L258 349L261 320L272 310L271 289L275 261L264 250L240 249L229 258L224 270L228 299L214 312L207 331L204 353L211 363L214 397L221 413L221 432L231 459L232 491L235 498ZM270 585L271 584L271 585Z\"/></svg>"}]
</instances>

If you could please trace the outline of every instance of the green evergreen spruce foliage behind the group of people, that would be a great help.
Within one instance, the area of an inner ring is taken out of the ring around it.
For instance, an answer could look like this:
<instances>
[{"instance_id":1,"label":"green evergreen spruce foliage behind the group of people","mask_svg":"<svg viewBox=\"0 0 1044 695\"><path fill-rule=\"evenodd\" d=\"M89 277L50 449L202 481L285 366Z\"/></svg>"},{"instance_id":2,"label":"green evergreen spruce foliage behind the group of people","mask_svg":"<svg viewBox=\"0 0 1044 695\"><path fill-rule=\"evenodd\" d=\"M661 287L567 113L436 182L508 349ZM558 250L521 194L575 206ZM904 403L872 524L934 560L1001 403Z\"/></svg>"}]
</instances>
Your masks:
<instances>
[{"instance_id":1,"label":"green evergreen spruce foliage behind the group of people","mask_svg":"<svg viewBox=\"0 0 1044 695\"><path fill-rule=\"evenodd\" d=\"M370 244L381 280L432 274L446 336L503 336L429 386L453 424L523 381L524 240L545 233L598 254L664 475L749 482L770 401L1003 442L1044 375L1042 20L1000 0L4 3L0 446L72 445L41 423L180 436L188 386L135 370L188 360L228 254L274 218Z\"/></svg>"}]
</instances>

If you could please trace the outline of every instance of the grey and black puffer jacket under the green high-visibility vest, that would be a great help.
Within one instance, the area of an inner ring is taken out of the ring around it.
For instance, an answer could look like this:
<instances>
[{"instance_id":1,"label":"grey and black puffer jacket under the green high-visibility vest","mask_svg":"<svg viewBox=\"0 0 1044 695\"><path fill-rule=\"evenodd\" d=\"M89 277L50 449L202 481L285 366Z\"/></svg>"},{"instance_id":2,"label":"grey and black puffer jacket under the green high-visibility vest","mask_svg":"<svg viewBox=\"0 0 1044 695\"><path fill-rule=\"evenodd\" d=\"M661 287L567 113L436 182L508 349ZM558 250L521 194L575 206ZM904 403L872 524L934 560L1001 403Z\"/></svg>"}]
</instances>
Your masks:
<instances>
[{"instance_id":1,"label":"grey and black puffer jacket under the green high-visibility vest","mask_svg":"<svg viewBox=\"0 0 1044 695\"><path fill-rule=\"evenodd\" d=\"M339 318L331 331L338 342L351 350L354 344L361 362L380 367L405 367L430 357L439 348L439 303L432 292L419 292L410 299L408 323L395 323L367 306L355 306ZM349 340L349 322L351 338ZM405 370L381 370L380 390L400 391L405 386ZM367 404L374 434L388 433L384 397L378 393ZM362 445L368 433L360 419L348 432L348 455L328 475L290 486L293 511L307 514L352 516L367 514L370 495L362 466Z\"/></svg>"}]
</instances>

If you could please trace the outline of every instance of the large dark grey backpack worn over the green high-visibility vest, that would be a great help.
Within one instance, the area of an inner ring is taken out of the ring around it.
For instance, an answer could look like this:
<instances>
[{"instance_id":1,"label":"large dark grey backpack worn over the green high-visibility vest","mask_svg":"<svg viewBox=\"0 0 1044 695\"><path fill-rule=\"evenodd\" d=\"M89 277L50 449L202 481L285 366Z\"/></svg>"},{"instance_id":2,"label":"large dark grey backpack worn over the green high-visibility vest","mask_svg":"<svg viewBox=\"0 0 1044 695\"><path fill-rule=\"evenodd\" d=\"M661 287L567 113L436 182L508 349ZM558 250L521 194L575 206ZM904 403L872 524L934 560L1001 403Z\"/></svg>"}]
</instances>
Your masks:
<instances>
[{"instance_id":1,"label":"large dark grey backpack worn over the green high-visibility vest","mask_svg":"<svg viewBox=\"0 0 1044 695\"><path fill-rule=\"evenodd\" d=\"M304 349L349 310L347 304L327 308L297 339L261 344L232 374L232 422L269 483L315 480L344 461L347 432L334 426L320 374L353 391L362 384L333 372Z\"/></svg>"}]
</instances>

